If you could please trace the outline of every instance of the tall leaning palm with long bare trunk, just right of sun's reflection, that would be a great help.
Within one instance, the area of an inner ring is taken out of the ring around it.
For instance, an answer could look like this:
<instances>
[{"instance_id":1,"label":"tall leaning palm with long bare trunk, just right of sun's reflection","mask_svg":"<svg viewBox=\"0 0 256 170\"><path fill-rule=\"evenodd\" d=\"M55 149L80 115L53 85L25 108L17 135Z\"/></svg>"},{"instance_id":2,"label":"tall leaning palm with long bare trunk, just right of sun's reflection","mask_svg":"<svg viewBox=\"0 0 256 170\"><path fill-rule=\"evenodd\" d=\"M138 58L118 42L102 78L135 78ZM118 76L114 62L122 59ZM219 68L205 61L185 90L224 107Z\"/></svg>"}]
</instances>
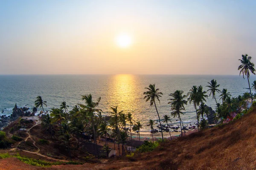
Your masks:
<instances>
[{"instance_id":1,"label":"tall leaning palm with long bare trunk, just right of sun's reflection","mask_svg":"<svg viewBox=\"0 0 256 170\"><path fill-rule=\"evenodd\" d=\"M145 88L148 91L145 91L143 94L145 95L144 99L146 99L146 102L148 102L148 100L150 99L150 106L152 106L154 104L156 111L157 111L157 106L156 106L156 102L155 99L157 99L160 103L160 99L159 97L162 97L161 95L163 95L162 92L158 92L159 88L155 89L155 84L154 85L149 85L148 88ZM159 119L159 123L160 123L160 127L161 127L161 133L162 133L162 141L163 141L163 130L162 130L162 125L161 125L161 120L160 120L160 116L159 113L157 111L157 116Z\"/></svg>"}]
</instances>

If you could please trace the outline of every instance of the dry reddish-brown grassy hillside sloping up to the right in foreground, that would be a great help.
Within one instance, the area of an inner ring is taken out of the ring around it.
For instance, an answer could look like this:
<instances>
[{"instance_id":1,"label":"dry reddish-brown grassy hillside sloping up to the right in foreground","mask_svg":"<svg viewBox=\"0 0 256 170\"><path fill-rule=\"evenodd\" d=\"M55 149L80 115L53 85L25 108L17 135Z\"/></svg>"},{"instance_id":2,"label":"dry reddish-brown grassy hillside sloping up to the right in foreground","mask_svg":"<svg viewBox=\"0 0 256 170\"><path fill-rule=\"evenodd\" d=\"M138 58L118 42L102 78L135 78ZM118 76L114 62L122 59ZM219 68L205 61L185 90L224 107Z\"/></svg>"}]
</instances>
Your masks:
<instances>
[{"instance_id":1,"label":"dry reddish-brown grassy hillside sloping up to the right in foreground","mask_svg":"<svg viewBox=\"0 0 256 170\"><path fill-rule=\"evenodd\" d=\"M192 133L166 141L150 153L136 153L130 158L109 159L97 164L56 165L41 168L27 165L16 158L0 159L5 169L152 169L206 170L256 168L256 110L227 125ZM33 155L31 155L33 156Z\"/></svg>"}]
</instances>

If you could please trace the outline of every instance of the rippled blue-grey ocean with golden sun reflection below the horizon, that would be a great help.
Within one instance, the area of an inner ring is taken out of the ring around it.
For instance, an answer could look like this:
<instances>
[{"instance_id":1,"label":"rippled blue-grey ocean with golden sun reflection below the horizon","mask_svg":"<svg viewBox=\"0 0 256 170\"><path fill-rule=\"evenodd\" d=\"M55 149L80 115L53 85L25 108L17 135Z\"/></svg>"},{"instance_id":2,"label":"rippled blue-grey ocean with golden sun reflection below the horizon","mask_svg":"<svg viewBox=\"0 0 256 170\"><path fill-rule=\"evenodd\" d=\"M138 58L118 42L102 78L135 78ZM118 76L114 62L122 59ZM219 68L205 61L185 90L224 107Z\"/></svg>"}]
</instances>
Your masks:
<instances>
[{"instance_id":1,"label":"rippled blue-grey ocean with golden sun reflection below the horizon","mask_svg":"<svg viewBox=\"0 0 256 170\"><path fill-rule=\"evenodd\" d=\"M143 130L148 131L148 120L158 121L158 117L155 108L150 107L150 103L143 99L145 87L155 84L163 93L160 103L156 103L162 118L171 112L169 94L175 90L183 90L187 94L193 85L202 85L207 91L205 86L211 79L217 80L220 90L227 88L234 97L249 92L247 79L239 75L0 75L0 111L4 111L0 115L11 114L15 103L18 107L32 109L37 96L42 96L47 101L45 110L50 111L53 107L59 107L63 101L71 109L74 105L83 103L81 95L92 94L94 100L101 97L99 108L104 111L103 115L109 115L110 108L118 105L119 111L132 113L134 120L140 120ZM250 84L255 79L256 76L251 76ZM218 96L216 94L217 100ZM206 104L215 109L212 97L207 99ZM185 108L181 119L185 124L195 123L193 105L188 103ZM172 118L172 124L178 125L177 118Z\"/></svg>"}]
</instances>

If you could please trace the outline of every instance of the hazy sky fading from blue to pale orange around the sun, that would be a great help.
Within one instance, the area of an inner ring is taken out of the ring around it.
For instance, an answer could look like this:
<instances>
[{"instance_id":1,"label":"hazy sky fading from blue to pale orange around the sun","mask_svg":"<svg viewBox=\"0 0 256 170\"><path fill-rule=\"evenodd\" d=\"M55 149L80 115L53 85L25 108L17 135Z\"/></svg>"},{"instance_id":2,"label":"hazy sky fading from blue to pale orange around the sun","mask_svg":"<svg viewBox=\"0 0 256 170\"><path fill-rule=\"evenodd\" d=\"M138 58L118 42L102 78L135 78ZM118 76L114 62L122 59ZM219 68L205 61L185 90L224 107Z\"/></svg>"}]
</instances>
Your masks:
<instances>
[{"instance_id":1,"label":"hazy sky fading from blue to pale orange around the sun","mask_svg":"<svg viewBox=\"0 0 256 170\"><path fill-rule=\"evenodd\" d=\"M239 74L255 0L1 0L0 74ZM116 36L131 46L119 47Z\"/></svg>"}]
</instances>

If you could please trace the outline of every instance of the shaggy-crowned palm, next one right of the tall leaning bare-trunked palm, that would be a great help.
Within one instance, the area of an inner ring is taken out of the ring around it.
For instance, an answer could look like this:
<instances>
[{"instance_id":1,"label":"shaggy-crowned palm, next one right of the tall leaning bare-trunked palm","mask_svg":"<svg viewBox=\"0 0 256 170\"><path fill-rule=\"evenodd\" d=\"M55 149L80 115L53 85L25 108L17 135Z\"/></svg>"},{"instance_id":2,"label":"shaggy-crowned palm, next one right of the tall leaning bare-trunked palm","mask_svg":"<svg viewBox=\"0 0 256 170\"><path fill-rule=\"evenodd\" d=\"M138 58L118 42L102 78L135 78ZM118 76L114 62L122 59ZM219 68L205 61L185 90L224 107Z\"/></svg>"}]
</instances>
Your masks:
<instances>
[{"instance_id":1,"label":"shaggy-crowned palm, next one right of the tall leaning bare-trunked palm","mask_svg":"<svg viewBox=\"0 0 256 170\"><path fill-rule=\"evenodd\" d=\"M171 102L168 102L168 104L171 104L171 110L172 110L172 116L178 117L180 119L180 114L184 114L182 111L185 111L184 105L187 104L187 101L183 98L186 97L186 95L182 95L183 91L177 90L172 94L169 94L169 96L172 96ZM180 132L182 136L182 127L181 127L181 119L180 119Z\"/></svg>"}]
</instances>

